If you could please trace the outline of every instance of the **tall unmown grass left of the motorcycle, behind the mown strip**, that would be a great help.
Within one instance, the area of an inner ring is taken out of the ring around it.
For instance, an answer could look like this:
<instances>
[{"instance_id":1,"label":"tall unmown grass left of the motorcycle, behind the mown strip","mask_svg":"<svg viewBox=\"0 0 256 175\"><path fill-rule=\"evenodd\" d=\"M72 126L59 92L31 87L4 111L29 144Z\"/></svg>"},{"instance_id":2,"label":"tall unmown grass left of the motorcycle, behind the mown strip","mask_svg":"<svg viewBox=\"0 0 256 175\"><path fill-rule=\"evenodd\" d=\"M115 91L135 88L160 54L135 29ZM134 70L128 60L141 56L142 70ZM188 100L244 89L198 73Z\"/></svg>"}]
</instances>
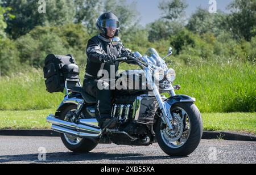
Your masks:
<instances>
[{"instance_id":1,"label":"tall unmown grass left of the motorcycle, behind the mown strip","mask_svg":"<svg viewBox=\"0 0 256 175\"><path fill-rule=\"evenodd\" d=\"M30 110L57 108L63 94L46 91L43 70L27 69L26 73L14 73L0 78L0 110Z\"/></svg>"}]
</instances>

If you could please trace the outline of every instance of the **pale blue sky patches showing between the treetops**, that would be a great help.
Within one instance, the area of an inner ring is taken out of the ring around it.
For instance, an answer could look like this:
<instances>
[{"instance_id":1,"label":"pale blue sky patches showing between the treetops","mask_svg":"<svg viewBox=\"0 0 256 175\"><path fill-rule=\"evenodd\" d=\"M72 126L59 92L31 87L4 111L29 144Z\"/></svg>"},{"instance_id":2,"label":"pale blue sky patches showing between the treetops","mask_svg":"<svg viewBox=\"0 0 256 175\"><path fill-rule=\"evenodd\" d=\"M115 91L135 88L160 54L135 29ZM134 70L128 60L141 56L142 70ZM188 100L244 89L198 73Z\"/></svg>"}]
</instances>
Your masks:
<instances>
[{"instance_id":1,"label":"pale blue sky patches showing between the treetops","mask_svg":"<svg viewBox=\"0 0 256 175\"><path fill-rule=\"evenodd\" d=\"M154 22L161 17L161 11L158 8L159 2L163 0L126 0L127 3L136 2L137 11L141 14L141 24L145 26L148 23ZM233 0L216 0L217 9L221 11L227 11L226 6ZM188 8L186 9L186 15L189 17L196 7L209 8L209 0L187 0Z\"/></svg>"}]
</instances>

